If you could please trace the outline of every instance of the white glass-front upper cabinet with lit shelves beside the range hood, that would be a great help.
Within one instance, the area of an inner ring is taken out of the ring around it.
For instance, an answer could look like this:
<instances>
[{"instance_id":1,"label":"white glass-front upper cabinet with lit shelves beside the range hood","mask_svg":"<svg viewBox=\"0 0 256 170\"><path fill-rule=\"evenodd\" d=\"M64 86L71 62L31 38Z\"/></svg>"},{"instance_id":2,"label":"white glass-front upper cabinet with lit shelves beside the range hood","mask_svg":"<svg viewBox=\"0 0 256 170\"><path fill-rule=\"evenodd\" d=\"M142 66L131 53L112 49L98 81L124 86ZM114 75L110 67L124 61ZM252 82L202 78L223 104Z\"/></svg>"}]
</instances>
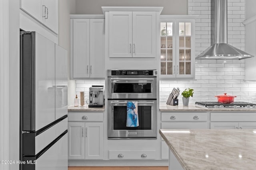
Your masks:
<instances>
[{"instance_id":1,"label":"white glass-front upper cabinet with lit shelves beside the range hood","mask_svg":"<svg viewBox=\"0 0 256 170\"><path fill-rule=\"evenodd\" d=\"M195 78L194 32L194 16L160 16L160 78Z\"/></svg>"}]
</instances>

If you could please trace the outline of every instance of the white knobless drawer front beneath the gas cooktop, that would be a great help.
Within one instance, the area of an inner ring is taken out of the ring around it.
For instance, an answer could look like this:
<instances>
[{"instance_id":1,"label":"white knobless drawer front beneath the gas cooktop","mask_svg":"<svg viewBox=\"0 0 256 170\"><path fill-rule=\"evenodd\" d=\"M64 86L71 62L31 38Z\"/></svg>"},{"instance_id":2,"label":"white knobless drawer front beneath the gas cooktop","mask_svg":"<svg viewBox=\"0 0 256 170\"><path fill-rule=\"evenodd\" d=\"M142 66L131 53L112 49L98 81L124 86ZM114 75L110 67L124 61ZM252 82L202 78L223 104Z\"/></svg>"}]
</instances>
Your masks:
<instances>
[{"instance_id":1,"label":"white knobless drawer front beneath the gas cooktop","mask_svg":"<svg viewBox=\"0 0 256 170\"><path fill-rule=\"evenodd\" d=\"M256 121L256 113L210 113L211 121Z\"/></svg>"}]
</instances>

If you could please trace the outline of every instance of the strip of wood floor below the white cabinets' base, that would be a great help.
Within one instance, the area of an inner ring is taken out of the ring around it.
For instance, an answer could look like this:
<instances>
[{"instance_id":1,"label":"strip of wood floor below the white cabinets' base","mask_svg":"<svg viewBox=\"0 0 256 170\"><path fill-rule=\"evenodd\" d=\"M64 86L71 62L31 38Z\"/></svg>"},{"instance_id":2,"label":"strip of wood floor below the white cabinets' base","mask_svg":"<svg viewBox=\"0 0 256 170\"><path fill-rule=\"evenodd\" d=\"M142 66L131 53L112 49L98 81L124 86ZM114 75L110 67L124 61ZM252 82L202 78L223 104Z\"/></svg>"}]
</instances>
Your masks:
<instances>
[{"instance_id":1,"label":"strip of wood floor below the white cabinets' base","mask_svg":"<svg viewBox=\"0 0 256 170\"><path fill-rule=\"evenodd\" d=\"M68 170L168 170L168 166L69 166Z\"/></svg>"}]
</instances>

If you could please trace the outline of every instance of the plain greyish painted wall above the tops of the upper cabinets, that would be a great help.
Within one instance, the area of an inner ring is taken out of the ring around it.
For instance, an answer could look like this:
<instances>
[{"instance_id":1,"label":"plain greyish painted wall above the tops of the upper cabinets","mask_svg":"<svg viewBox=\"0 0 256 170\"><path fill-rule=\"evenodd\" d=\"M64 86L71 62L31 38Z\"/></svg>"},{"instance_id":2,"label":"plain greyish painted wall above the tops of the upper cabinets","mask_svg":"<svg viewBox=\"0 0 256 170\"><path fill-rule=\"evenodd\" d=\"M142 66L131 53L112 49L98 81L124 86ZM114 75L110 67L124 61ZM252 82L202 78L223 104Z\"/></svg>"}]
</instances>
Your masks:
<instances>
[{"instance_id":1,"label":"plain greyish painted wall above the tops of the upper cabinets","mask_svg":"<svg viewBox=\"0 0 256 170\"><path fill-rule=\"evenodd\" d=\"M102 6L162 6L162 15L187 15L187 0L76 0L76 14L103 14Z\"/></svg>"}]
</instances>

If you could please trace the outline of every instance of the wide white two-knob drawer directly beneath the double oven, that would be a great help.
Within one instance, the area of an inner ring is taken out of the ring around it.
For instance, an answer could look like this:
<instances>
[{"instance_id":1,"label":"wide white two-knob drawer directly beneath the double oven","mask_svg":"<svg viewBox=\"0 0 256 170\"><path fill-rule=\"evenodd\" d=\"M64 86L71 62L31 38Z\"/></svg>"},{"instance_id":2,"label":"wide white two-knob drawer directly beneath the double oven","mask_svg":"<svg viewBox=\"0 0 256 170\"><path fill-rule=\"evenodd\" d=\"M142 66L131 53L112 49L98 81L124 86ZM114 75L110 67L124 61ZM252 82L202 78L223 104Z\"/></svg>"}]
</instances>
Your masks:
<instances>
[{"instance_id":1,"label":"wide white two-knob drawer directly beneath the double oven","mask_svg":"<svg viewBox=\"0 0 256 170\"><path fill-rule=\"evenodd\" d=\"M156 159L156 150L109 150L109 159Z\"/></svg>"}]
</instances>

